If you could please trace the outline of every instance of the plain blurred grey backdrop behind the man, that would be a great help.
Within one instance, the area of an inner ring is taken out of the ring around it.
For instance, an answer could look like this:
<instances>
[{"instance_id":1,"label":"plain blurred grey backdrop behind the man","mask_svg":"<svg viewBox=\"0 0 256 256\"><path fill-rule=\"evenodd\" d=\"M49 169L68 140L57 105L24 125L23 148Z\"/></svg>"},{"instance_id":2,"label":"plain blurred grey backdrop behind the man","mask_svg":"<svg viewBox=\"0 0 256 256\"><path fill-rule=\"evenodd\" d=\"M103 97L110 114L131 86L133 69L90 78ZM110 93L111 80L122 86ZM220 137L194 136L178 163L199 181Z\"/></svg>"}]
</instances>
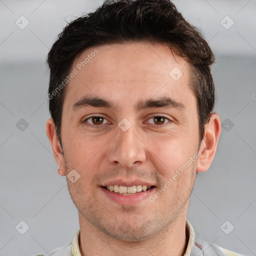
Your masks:
<instances>
[{"instance_id":1,"label":"plain blurred grey backdrop behind the man","mask_svg":"<svg viewBox=\"0 0 256 256\"><path fill-rule=\"evenodd\" d=\"M173 2L202 29L216 55L215 111L223 122L213 162L197 174L187 219L207 241L256 255L256 1ZM65 20L101 3L0 0L0 256L49 255L79 229L77 209L45 132L44 62ZM15 24L21 15L29 21L24 29ZM228 29L222 25L231 24L226 15L234 21ZM21 118L28 123L23 131L16 126ZM20 221L29 226L24 234L15 228ZM231 225L234 229L224 233Z\"/></svg>"}]
</instances>

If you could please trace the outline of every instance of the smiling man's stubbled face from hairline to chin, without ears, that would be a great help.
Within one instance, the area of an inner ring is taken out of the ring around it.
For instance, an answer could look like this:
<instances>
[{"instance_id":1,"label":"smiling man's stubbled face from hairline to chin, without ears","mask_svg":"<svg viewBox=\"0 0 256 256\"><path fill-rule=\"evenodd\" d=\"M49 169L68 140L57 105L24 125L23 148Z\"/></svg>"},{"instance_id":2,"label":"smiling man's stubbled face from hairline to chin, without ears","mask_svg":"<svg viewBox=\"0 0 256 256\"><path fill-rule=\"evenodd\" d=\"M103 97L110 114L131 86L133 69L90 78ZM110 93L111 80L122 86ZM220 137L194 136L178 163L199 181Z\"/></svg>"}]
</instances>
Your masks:
<instances>
[{"instance_id":1,"label":"smiling man's stubbled face from hairline to chin, without ears","mask_svg":"<svg viewBox=\"0 0 256 256\"><path fill-rule=\"evenodd\" d=\"M95 48L76 58L66 88L63 165L79 174L67 185L80 221L120 240L143 240L186 213L194 184L199 132L189 66L163 44ZM152 187L123 195L108 185Z\"/></svg>"}]
</instances>

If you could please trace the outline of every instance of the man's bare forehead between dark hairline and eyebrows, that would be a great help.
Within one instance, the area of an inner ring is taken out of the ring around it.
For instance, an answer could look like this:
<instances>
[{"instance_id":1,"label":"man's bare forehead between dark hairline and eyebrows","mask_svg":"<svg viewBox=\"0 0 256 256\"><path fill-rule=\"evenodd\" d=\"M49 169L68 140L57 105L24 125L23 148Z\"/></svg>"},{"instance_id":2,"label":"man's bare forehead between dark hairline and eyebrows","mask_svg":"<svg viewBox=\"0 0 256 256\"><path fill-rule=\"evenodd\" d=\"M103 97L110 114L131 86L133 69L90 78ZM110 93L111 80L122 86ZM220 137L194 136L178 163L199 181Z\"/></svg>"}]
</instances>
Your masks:
<instances>
[{"instance_id":1,"label":"man's bare forehead between dark hairline and eyebrows","mask_svg":"<svg viewBox=\"0 0 256 256\"><path fill-rule=\"evenodd\" d=\"M74 60L75 75L66 88L64 105L90 94L109 98L116 109L141 98L169 96L189 105L189 64L167 45L127 42L90 47Z\"/></svg>"}]
</instances>

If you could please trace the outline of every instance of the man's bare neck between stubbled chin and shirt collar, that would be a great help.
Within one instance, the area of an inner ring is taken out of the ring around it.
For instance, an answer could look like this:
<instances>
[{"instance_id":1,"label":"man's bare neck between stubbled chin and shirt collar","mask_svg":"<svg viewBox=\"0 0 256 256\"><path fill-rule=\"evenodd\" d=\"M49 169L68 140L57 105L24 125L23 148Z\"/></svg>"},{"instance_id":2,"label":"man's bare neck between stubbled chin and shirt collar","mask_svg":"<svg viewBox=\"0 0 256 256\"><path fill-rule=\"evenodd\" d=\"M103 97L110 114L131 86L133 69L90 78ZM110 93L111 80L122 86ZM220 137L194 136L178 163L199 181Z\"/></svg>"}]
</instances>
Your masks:
<instances>
[{"instance_id":1,"label":"man's bare neck between stubbled chin and shirt collar","mask_svg":"<svg viewBox=\"0 0 256 256\"><path fill-rule=\"evenodd\" d=\"M178 216L156 235L137 242L122 241L99 231L78 212L80 223L79 248L82 256L183 256L189 232L186 214Z\"/></svg>"}]
</instances>

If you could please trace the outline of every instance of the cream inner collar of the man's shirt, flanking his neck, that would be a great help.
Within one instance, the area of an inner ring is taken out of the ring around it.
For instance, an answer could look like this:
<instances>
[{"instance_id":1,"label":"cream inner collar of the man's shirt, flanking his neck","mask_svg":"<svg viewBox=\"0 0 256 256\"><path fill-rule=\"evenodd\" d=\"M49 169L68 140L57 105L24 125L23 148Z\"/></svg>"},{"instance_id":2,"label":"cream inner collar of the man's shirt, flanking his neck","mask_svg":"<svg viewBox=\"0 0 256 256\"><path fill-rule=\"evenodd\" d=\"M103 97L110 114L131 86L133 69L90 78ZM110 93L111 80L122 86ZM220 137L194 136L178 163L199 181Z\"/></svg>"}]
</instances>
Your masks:
<instances>
[{"instance_id":1,"label":"cream inner collar of the man's shirt, flanking his neck","mask_svg":"<svg viewBox=\"0 0 256 256\"><path fill-rule=\"evenodd\" d=\"M183 256L190 256L191 249L194 243L194 229L187 219L186 219L186 228L188 229L189 239L188 239L186 251ZM76 232L72 241L72 246L71 246L72 256L81 256L81 252L79 249L79 240L78 240L79 234L80 234L80 229Z\"/></svg>"}]
</instances>

